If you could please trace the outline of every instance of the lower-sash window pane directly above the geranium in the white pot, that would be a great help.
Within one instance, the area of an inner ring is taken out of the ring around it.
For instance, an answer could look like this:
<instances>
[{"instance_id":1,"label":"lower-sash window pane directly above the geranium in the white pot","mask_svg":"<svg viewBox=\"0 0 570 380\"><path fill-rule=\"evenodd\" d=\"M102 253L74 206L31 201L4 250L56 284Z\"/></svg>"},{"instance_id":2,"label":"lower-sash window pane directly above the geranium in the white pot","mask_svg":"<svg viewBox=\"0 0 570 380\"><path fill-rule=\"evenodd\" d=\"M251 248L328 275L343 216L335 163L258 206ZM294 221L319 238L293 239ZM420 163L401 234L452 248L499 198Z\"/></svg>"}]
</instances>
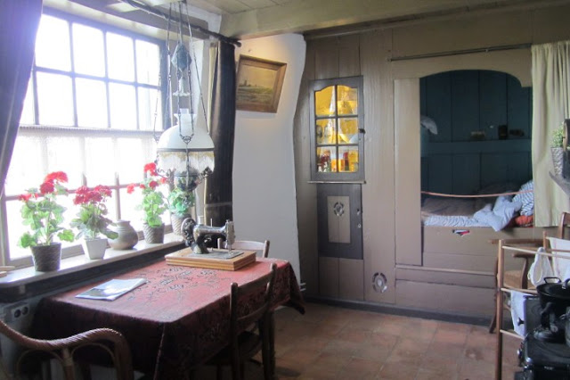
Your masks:
<instances>
[{"instance_id":1,"label":"lower-sash window pane directly above the geranium in the white pot","mask_svg":"<svg viewBox=\"0 0 570 380\"><path fill-rule=\"evenodd\" d=\"M115 185L117 160L113 140L111 137L85 138L85 173L88 186Z\"/></svg>"}]
</instances>

